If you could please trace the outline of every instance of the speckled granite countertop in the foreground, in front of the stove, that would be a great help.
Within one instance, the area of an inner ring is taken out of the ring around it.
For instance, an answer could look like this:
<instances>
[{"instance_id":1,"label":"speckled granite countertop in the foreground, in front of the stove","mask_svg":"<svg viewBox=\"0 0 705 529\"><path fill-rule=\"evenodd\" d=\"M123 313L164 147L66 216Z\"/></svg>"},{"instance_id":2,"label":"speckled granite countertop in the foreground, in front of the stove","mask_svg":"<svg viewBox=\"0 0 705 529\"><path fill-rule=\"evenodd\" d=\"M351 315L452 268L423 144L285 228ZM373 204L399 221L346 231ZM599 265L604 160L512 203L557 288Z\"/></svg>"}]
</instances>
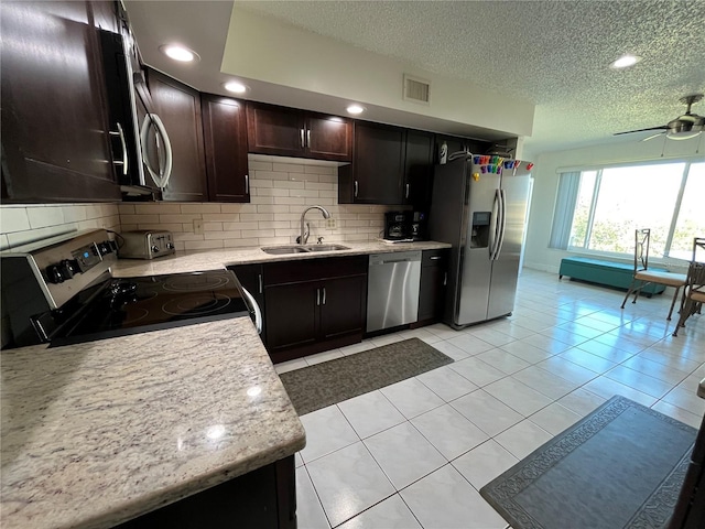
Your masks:
<instances>
[{"instance_id":1,"label":"speckled granite countertop in the foreground, in front of the stove","mask_svg":"<svg viewBox=\"0 0 705 529\"><path fill-rule=\"evenodd\" d=\"M247 317L2 352L3 529L110 527L305 445Z\"/></svg>"}]
</instances>

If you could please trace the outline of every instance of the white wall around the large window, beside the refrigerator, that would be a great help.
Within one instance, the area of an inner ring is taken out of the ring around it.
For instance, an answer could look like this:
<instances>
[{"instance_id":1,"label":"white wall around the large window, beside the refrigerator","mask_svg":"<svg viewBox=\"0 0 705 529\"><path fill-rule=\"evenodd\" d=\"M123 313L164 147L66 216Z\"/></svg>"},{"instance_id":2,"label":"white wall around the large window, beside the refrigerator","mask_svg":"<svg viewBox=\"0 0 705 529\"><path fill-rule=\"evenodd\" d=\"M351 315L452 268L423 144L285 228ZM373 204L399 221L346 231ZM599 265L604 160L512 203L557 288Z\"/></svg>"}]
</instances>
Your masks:
<instances>
[{"instance_id":1,"label":"white wall around the large window, beside the refrigerator","mask_svg":"<svg viewBox=\"0 0 705 529\"><path fill-rule=\"evenodd\" d=\"M701 134L703 136L703 134ZM699 153L696 153L698 149ZM610 144L593 145L541 154L527 153L528 160L533 160L534 187L531 201L531 216L527 233L524 249L524 266L550 272L558 271L561 259L574 256L575 251L563 251L549 248L553 208L558 185L558 171L566 168L587 168L610 163L642 162L649 160L705 160L705 140L693 139L673 141L654 139L650 141L615 141ZM674 267L674 262L665 262L666 267Z\"/></svg>"}]
</instances>

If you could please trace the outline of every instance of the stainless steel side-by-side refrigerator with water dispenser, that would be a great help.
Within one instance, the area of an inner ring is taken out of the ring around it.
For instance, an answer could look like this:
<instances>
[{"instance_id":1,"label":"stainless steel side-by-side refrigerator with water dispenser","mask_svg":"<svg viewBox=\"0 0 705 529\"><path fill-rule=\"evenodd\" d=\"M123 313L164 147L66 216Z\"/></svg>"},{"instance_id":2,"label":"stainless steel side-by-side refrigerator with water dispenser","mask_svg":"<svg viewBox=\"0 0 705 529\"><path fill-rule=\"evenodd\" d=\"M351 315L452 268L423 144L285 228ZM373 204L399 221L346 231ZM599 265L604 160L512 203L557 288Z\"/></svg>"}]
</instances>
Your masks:
<instances>
[{"instance_id":1,"label":"stainless steel side-by-side refrigerator with water dispenser","mask_svg":"<svg viewBox=\"0 0 705 529\"><path fill-rule=\"evenodd\" d=\"M429 230L431 239L453 245L448 325L459 328L513 311L532 166L469 153L435 166Z\"/></svg>"}]
</instances>

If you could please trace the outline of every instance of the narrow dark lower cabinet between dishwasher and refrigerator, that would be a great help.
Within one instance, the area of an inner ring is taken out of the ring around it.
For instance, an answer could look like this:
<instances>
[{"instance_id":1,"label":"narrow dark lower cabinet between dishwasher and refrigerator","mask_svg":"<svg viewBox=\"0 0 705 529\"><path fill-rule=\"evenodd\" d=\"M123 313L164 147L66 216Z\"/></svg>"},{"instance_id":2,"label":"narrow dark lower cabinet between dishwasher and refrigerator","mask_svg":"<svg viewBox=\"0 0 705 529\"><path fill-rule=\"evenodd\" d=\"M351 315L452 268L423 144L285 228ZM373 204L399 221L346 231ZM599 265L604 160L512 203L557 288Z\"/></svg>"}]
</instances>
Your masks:
<instances>
[{"instance_id":1,"label":"narrow dark lower cabinet between dishwasher and refrigerator","mask_svg":"<svg viewBox=\"0 0 705 529\"><path fill-rule=\"evenodd\" d=\"M440 321L445 302L448 250L425 250L421 258L419 320L412 327Z\"/></svg>"}]
</instances>

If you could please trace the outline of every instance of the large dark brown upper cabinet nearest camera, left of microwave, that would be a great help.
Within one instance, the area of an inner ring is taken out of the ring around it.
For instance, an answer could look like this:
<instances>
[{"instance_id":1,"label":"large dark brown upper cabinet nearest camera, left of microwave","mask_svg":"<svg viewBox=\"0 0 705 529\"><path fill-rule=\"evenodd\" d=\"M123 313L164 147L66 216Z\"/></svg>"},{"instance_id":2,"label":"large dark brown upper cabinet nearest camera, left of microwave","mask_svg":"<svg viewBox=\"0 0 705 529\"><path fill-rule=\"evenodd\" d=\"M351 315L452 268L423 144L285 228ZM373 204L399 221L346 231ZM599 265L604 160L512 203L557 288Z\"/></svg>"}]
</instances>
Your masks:
<instances>
[{"instance_id":1,"label":"large dark brown upper cabinet nearest camera, left of microwave","mask_svg":"<svg viewBox=\"0 0 705 529\"><path fill-rule=\"evenodd\" d=\"M93 9L0 3L4 202L120 199Z\"/></svg>"}]
</instances>

